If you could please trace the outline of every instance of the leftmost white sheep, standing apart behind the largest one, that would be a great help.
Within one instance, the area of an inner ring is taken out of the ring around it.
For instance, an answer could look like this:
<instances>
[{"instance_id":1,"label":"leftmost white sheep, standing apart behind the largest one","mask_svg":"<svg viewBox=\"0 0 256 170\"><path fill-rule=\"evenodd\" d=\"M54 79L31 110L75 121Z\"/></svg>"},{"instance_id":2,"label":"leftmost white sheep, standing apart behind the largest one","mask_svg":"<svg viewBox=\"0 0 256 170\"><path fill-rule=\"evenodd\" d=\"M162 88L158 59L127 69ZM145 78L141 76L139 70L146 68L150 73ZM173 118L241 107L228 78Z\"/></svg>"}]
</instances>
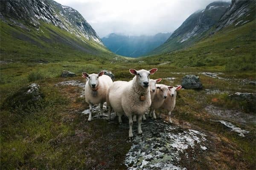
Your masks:
<instances>
[{"instance_id":1,"label":"leftmost white sheep, standing apart behind the largest one","mask_svg":"<svg viewBox=\"0 0 256 170\"><path fill-rule=\"evenodd\" d=\"M103 103L106 102L106 94L109 86L112 85L113 81L109 76L103 75L104 71L99 74L87 74L82 73L82 77L86 78L85 84L85 101L90 106L90 114L88 122L92 119L93 105L100 103L100 114L102 116Z\"/></svg>"}]
</instances>

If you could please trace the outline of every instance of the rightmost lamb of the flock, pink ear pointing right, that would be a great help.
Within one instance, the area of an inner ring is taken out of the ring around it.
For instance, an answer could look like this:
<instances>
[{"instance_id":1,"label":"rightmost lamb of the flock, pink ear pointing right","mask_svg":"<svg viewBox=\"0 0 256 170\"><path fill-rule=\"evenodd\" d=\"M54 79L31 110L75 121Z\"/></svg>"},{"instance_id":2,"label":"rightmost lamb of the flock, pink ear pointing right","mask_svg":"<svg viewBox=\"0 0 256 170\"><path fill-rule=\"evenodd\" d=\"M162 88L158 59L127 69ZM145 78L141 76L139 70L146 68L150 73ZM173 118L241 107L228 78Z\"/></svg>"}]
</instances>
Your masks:
<instances>
[{"instance_id":1,"label":"rightmost lamb of the flock, pink ear pointing right","mask_svg":"<svg viewBox=\"0 0 256 170\"><path fill-rule=\"evenodd\" d=\"M169 88L168 94L167 94L167 99L165 99L165 101L163 102L163 105L161 106L161 108L166 109L168 111L168 116L169 116L169 122L172 123L171 120L171 112L173 111L174 107L175 107L175 103L176 103L176 95L178 90L180 90L180 88L182 88L181 85L178 85L177 87L173 87L171 86L171 88Z\"/></svg>"}]
</instances>

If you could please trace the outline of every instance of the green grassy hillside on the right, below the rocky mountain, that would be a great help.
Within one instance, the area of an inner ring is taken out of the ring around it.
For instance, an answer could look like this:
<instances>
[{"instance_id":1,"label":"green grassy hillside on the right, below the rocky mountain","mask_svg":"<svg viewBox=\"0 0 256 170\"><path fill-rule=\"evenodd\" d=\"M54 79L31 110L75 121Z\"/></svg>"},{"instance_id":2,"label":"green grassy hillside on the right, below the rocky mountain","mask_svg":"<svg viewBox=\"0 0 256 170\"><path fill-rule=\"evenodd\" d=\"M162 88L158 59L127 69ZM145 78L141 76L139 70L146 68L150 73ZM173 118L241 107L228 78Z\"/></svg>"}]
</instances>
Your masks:
<instances>
[{"instance_id":1,"label":"green grassy hillside on the right, below the rocky mountain","mask_svg":"<svg viewBox=\"0 0 256 170\"><path fill-rule=\"evenodd\" d=\"M178 51L145 57L148 63L170 62L178 67L221 66L226 71L255 71L256 21L227 27Z\"/></svg>"}]
</instances>

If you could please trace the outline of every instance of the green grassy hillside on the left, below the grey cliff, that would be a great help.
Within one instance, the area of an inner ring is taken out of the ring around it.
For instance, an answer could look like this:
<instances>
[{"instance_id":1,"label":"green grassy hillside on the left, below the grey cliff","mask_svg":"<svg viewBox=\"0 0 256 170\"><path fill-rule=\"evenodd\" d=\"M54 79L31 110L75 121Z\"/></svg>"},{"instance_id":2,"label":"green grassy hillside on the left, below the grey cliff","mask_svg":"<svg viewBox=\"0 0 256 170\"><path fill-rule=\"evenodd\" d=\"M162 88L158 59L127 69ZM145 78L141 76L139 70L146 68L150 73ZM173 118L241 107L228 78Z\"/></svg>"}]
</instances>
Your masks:
<instances>
[{"instance_id":1,"label":"green grassy hillside on the left, below the grey cliff","mask_svg":"<svg viewBox=\"0 0 256 170\"><path fill-rule=\"evenodd\" d=\"M41 23L39 29L21 28L1 20L0 28L1 60L77 61L115 56L103 45L78 38L52 24Z\"/></svg>"}]
</instances>

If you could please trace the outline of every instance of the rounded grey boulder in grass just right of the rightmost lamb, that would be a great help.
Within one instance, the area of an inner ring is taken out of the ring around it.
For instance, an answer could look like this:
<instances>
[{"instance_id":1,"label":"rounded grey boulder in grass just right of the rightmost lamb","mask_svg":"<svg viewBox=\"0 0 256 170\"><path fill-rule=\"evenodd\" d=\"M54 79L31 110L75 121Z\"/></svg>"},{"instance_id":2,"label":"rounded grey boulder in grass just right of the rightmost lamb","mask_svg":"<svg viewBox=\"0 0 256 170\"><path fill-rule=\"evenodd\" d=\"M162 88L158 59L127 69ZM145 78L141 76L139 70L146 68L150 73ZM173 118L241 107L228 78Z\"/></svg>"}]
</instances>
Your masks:
<instances>
[{"instance_id":1,"label":"rounded grey boulder in grass just right of the rightmost lamb","mask_svg":"<svg viewBox=\"0 0 256 170\"><path fill-rule=\"evenodd\" d=\"M186 89L200 89L203 88L203 85L199 79L199 76L196 75L186 75L181 79L181 85Z\"/></svg>"}]
</instances>

